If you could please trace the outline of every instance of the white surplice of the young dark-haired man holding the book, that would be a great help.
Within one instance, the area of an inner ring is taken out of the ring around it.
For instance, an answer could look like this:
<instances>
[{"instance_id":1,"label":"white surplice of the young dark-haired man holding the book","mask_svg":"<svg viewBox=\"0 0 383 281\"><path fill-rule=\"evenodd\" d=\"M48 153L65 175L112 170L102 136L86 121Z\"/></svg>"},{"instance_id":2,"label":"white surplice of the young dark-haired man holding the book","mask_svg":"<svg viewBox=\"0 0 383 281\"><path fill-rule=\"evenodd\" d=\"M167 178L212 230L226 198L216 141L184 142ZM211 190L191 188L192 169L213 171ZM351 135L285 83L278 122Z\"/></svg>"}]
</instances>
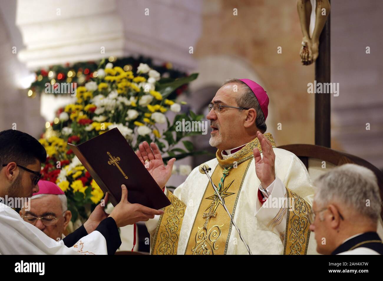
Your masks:
<instances>
[{"instance_id":1,"label":"white surplice of the young dark-haired man holding the book","mask_svg":"<svg viewBox=\"0 0 383 281\"><path fill-rule=\"evenodd\" d=\"M43 231L24 221L20 214L0 203L0 254L2 255L106 255L105 237L93 231L73 247L55 241Z\"/></svg>"}]
</instances>

